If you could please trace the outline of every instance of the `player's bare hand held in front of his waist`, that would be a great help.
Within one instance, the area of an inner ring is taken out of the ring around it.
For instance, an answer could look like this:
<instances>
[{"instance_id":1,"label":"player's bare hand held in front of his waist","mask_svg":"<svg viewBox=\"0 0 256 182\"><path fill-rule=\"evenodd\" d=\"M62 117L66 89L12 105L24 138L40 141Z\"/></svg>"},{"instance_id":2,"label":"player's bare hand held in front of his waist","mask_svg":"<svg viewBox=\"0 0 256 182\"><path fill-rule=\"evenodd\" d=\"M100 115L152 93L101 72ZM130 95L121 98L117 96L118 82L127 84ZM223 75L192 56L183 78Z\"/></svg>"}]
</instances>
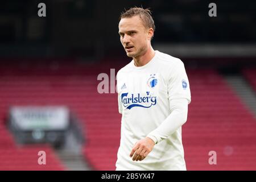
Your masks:
<instances>
[{"instance_id":1,"label":"player's bare hand held in front of his waist","mask_svg":"<svg viewBox=\"0 0 256 182\"><path fill-rule=\"evenodd\" d=\"M153 150L155 142L151 138L144 138L139 140L133 146L131 150L130 158L133 157L133 161L143 160Z\"/></svg>"}]
</instances>

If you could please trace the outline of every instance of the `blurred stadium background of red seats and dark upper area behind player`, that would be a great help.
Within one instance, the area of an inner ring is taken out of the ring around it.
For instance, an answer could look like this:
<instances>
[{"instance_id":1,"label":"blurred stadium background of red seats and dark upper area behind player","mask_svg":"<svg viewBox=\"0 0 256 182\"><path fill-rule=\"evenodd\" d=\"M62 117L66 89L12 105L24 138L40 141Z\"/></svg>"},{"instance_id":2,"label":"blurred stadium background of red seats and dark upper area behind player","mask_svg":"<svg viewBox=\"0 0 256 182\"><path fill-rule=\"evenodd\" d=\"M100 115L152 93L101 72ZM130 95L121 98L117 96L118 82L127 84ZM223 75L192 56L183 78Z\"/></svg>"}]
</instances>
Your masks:
<instances>
[{"instance_id":1,"label":"blurred stadium background of red seats and dark upper area behind player","mask_svg":"<svg viewBox=\"0 0 256 182\"><path fill-rule=\"evenodd\" d=\"M217 17L208 16L210 2ZM187 169L256 170L256 1L248 0L2 1L1 170L115 169L117 94L98 93L97 76L129 63L118 17L141 5L153 12L153 47L187 69ZM46 165L38 164L39 151Z\"/></svg>"}]
</instances>

